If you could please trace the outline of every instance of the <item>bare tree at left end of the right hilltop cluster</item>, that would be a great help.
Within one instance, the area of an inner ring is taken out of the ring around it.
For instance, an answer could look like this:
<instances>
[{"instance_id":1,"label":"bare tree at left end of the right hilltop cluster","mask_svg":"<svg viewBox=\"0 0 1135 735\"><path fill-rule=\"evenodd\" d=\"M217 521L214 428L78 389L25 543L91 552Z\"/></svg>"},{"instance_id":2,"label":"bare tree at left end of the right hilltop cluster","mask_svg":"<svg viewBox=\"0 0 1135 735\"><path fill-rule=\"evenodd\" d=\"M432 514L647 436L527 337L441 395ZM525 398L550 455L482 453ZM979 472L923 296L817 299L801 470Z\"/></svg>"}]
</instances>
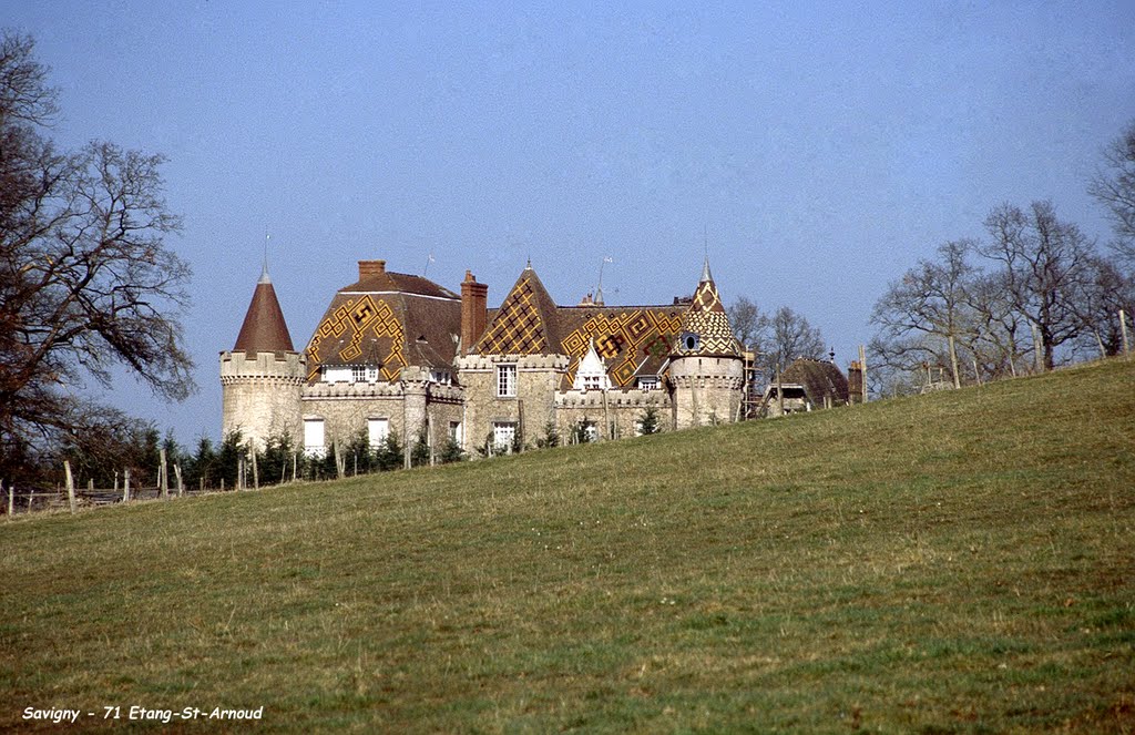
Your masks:
<instances>
[{"instance_id":1,"label":"bare tree at left end of the right hilltop cluster","mask_svg":"<svg viewBox=\"0 0 1135 735\"><path fill-rule=\"evenodd\" d=\"M966 256L973 249L967 240L940 245L938 260L919 260L892 283L871 317L882 327L882 342L896 349L906 345L903 353L911 352L919 335L944 341L955 387L961 387L958 340L973 332L966 319L967 287L974 273Z\"/></svg>"}]
</instances>

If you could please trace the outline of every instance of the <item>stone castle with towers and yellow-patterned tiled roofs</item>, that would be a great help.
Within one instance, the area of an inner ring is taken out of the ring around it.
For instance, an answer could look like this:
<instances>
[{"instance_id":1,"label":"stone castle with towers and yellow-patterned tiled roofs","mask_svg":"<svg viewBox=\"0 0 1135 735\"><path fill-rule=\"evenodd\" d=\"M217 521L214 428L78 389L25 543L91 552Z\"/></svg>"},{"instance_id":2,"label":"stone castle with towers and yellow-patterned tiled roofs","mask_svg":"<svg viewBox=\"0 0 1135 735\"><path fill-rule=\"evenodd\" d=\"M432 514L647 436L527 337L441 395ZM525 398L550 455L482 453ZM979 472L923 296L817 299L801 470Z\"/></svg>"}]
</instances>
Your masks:
<instances>
[{"instance_id":1,"label":"stone castle with towers and yellow-patterned tiled roofs","mask_svg":"<svg viewBox=\"0 0 1135 735\"><path fill-rule=\"evenodd\" d=\"M745 369L708 260L693 296L666 306L557 306L529 264L499 307L466 272L461 293L359 261L303 352L267 268L235 346L220 353L221 431L262 445L286 434L310 454L365 432L431 452L633 436L734 421Z\"/></svg>"}]
</instances>

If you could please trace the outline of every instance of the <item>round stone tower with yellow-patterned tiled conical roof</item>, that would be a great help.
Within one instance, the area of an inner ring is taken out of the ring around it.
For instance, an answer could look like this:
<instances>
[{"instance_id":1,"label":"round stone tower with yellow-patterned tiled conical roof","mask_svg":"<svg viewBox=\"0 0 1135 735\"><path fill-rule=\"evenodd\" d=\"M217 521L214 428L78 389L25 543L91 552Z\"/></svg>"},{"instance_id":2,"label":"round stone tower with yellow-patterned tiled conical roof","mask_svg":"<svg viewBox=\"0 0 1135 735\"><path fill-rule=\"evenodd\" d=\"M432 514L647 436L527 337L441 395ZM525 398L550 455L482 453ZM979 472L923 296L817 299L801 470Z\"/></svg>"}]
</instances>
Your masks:
<instances>
[{"instance_id":1,"label":"round stone tower with yellow-patterned tiled conical roof","mask_svg":"<svg viewBox=\"0 0 1135 735\"><path fill-rule=\"evenodd\" d=\"M670 356L674 428L738 420L745 359L709 273L709 259Z\"/></svg>"}]
</instances>

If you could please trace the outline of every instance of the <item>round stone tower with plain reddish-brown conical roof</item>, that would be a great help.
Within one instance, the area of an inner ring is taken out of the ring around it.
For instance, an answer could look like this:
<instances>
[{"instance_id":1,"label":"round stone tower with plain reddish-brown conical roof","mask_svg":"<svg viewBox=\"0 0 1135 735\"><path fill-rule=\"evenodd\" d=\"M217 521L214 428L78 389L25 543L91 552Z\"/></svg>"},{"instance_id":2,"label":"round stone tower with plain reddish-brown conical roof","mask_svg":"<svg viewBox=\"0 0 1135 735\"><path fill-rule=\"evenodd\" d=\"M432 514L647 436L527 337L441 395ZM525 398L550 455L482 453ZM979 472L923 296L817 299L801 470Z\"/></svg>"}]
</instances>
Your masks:
<instances>
[{"instance_id":1,"label":"round stone tower with plain reddish-brown conical roof","mask_svg":"<svg viewBox=\"0 0 1135 735\"><path fill-rule=\"evenodd\" d=\"M306 360L295 351L264 267L236 345L220 353L221 439L239 429L254 446L269 436L303 441L300 400Z\"/></svg>"}]
</instances>

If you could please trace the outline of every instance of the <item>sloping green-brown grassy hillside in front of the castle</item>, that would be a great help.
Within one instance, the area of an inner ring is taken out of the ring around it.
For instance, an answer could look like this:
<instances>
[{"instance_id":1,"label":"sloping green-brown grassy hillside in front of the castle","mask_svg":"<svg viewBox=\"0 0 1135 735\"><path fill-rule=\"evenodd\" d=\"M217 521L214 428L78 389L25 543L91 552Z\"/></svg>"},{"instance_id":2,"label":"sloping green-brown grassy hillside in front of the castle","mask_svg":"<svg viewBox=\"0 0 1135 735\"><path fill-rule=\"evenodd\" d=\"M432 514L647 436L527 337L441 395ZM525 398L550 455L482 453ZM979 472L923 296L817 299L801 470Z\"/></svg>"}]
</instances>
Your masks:
<instances>
[{"instance_id":1,"label":"sloping green-brown grassy hillside in front of the castle","mask_svg":"<svg viewBox=\"0 0 1135 735\"><path fill-rule=\"evenodd\" d=\"M0 728L1132 732L1135 361L40 516L0 557Z\"/></svg>"}]
</instances>

